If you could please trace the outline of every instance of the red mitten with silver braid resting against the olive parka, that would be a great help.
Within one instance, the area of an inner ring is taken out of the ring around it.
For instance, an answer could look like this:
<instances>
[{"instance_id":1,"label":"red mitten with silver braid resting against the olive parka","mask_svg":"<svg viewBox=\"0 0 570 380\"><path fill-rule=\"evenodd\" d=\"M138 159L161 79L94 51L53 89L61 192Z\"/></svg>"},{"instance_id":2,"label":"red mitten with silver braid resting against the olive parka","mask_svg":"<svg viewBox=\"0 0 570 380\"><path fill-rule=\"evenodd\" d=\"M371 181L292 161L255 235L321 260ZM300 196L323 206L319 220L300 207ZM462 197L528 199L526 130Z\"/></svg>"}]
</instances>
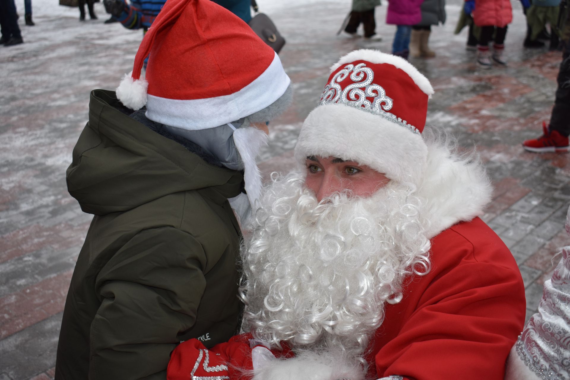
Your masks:
<instances>
[{"instance_id":1,"label":"red mitten with silver braid resting against the olive parka","mask_svg":"<svg viewBox=\"0 0 570 380\"><path fill-rule=\"evenodd\" d=\"M170 355L166 379L230 379L227 362L227 357L211 352L197 339L190 339L179 344Z\"/></svg>"}]
</instances>

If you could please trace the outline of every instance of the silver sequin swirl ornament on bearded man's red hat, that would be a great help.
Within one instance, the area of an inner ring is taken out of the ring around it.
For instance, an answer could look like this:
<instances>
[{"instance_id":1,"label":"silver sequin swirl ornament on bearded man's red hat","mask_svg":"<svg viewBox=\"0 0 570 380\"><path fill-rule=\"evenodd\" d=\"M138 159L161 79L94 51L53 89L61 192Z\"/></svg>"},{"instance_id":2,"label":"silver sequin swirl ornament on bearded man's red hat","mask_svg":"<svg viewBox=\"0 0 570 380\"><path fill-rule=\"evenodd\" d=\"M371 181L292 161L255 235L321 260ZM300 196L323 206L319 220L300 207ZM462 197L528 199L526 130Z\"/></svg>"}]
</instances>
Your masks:
<instances>
[{"instance_id":1,"label":"silver sequin swirl ornament on bearded man's red hat","mask_svg":"<svg viewBox=\"0 0 570 380\"><path fill-rule=\"evenodd\" d=\"M349 76L355 83L349 84L344 90L341 90L339 83ZM408 124L408 122L393 113L387 112L392 109L394 101L386 96L386 91L381 85L372 83L373 80L374 72L371 68L366 67L365 63L359 63L356 66L347 64L343 70L340 70L332 77L331 83L325 86L319 105L332 103L348 105L361 109L362 111L373 113L374 115L382 116L389 121L411 130L413 133L421 134L420 130L415 126ZM370 103L370 101L366 99L367 97L373 97L373 103Z\"/></svg>"}]
</instances>

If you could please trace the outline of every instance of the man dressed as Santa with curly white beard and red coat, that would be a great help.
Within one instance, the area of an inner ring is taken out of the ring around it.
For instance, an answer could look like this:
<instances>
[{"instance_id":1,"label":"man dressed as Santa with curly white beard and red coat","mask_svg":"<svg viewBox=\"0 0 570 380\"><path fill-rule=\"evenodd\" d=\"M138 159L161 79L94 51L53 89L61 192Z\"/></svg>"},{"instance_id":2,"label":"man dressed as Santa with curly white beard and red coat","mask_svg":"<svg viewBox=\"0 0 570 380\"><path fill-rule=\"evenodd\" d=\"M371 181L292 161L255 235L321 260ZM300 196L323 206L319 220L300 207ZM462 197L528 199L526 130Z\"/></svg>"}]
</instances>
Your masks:
<instances>
[{"instance_id":1,"label":"man dressed as Santa with curly white beard and red coat","mask_svg":"<svg viewBox=\"0 0 570 380\"><path fill-rule=\"evenodd\" d=\"M183 342L169 379L503 379L523 281L477 156L424 129L432 94L393 55L332 66L242 246L245 334Z\"/></svg>"}]
</instances>

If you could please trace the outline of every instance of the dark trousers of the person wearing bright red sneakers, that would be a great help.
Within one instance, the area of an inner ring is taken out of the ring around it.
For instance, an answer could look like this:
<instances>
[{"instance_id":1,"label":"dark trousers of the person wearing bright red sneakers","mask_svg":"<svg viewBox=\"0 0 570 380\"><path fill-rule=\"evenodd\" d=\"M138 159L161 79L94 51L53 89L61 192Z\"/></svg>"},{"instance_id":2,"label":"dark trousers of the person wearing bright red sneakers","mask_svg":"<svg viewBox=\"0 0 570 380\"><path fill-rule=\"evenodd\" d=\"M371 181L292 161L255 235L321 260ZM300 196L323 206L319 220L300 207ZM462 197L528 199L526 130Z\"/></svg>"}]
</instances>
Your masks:
<instances>
[{"instance_id":1,"label":"dark trousers of the person wearing bright red sneakers","mask_svg":"<svg viewBox=\"0 0 570 380\"><path fill-rule=\"evenodd\" d=\"M558 88L550 117L550 129L557 130L563 136L570 136L570 46L567 44L566 48L556 78Z\"/></svg>"}]
</instances>

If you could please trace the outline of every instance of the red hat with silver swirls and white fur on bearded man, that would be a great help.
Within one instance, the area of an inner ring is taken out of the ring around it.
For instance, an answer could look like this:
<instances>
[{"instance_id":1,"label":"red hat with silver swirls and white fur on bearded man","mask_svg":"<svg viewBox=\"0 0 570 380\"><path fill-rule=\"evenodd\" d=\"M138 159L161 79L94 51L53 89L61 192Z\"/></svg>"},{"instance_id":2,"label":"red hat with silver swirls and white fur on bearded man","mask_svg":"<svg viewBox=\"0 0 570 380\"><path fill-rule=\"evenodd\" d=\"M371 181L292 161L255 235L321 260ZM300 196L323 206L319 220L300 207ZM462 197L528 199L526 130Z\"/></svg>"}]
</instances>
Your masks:
<instances>
[{"instance_id":1,"label":"red hat with silver swirls and white fur on bearded man","mask_svg":"<svg viewBox=\"0 0 570 380\"><path fill-rule=\"evenodd\" d=\"M390 179L420 183L427 164L422 140L429 80L408 61L356 50L331 68L319 105L307 116L295 157L339 157Z\"/></svg>"}]
</instances>

